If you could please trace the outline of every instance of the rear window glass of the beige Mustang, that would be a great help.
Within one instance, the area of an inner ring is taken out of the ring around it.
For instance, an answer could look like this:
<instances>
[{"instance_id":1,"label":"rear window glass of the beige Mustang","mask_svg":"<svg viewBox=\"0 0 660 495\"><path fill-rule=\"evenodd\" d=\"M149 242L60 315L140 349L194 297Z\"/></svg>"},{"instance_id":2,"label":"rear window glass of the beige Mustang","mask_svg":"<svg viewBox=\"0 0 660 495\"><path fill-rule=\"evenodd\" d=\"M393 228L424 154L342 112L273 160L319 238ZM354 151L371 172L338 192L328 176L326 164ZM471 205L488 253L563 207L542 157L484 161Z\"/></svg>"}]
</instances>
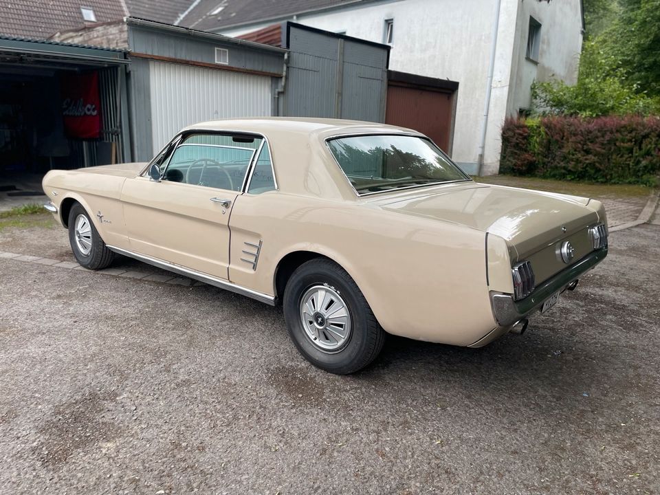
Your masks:
<instances>
[{"instance_id":1,"label":"rear window glass of the beige Mustang","mask_svg":"<svg viewBox=\"0 0 660 495\"><path fill-rule=\"evenodd\" d=\"M328 146L359 195L470 180L430 140L410 135L335 137Z\"/></svg>"}]
</instances>

